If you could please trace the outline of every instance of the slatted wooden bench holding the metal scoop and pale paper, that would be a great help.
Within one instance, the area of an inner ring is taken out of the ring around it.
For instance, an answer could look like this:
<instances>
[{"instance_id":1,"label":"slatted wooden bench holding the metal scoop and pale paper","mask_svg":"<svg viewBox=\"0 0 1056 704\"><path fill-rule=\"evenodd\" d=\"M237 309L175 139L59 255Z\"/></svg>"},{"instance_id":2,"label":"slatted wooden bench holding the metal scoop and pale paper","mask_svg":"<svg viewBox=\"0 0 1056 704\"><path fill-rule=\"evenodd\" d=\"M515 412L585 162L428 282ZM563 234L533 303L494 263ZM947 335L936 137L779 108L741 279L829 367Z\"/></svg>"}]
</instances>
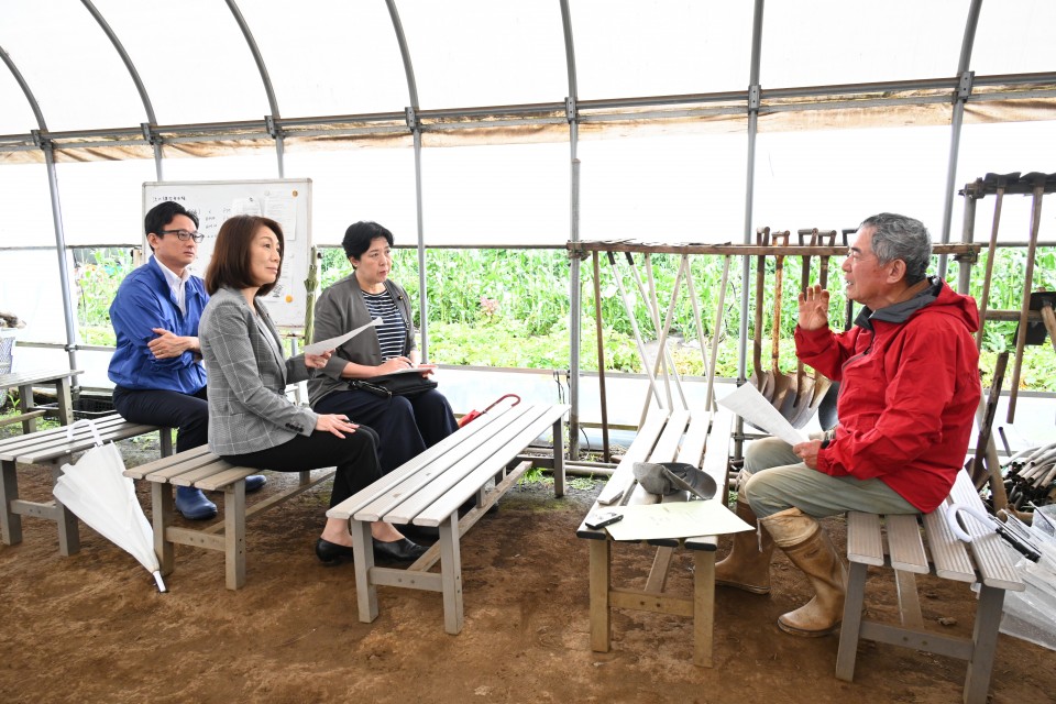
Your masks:
<instances>
[{"instance_id":1,"label":"slatted wooden bench holding the metal scoop and pale paper","mask_svg":"<svg viewBox=\"0 0 1056 704\"><path fill-rule=\"evenodd\" d=\"M715 480L715 499L726 505L729 432L734 417L721 409L716 414L686 410L652 411L619 462L613 476L598 494L591 514L604 510L626 498L626 504L651 504L658 497L634 480L635 462L685 462L700 466ZM629 497L626 493L631 492ZM664 501L686 501L688 493L666 496ZM587 514L590 515L590 514ZM590 540L591 649L608 652L612 644L612 610L672 614L693 619L693 663L712 667L712 635L715 610L715 536L682 540L648 540L657 554L642 588L613 586L612 546L605 529L592 530L581 524L575 535ZM683 547L693 554L693 595L664 592L674 550Z\"/></svg>"}]
</instances>

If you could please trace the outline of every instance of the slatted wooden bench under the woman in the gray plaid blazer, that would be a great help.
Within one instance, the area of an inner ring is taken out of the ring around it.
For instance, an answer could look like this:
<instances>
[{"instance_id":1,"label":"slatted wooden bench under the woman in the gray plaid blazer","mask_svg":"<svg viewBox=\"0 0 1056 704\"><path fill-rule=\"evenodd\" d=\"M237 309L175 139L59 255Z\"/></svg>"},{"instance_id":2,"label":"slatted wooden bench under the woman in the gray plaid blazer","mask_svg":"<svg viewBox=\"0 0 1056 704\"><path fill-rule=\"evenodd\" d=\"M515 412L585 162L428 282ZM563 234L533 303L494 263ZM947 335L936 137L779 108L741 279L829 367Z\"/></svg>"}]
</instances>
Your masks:
<instances>
[{"instance_id":1,"label":"slatted wooden bench under the woman in the gray plaid blazer","mask_svg":"<svg viewBox=\"0 0 1056 704\"><path fill-rule=\"evenodd\" d=\"M297 485L284 490L249 508L245 505L245 477L260 470L234 466L202 446L162 458L131 470L124 475L151 483L151 519L154 551L163 575L176 568L176 546L218 550L224 556L224 582L229 590L245 586L245 520L333 476L333 470L312 474L299 472ZM223 519L205 528L176 526L176 502L169 486L194 486L207 492L223 492Z\"/></svg>"}]
</instances>

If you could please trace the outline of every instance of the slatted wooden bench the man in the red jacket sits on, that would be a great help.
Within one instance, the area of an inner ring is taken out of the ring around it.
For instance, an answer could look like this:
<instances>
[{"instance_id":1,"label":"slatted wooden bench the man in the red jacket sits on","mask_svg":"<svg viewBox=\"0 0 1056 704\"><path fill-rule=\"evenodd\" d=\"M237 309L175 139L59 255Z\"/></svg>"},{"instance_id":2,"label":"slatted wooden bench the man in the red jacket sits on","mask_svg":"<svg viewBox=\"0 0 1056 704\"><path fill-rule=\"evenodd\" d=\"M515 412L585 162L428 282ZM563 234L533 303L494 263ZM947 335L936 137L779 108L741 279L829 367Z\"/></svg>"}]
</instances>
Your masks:
<instances>
[{"instance_id":1,"label":"slatted wooden bench the man in the red jacket sits on","mask_svg":"<svg viewBox=\"0 0 1056 704\"><path fill-rule=\"evenodd\" d=\"M948 507L953 504L986 512L964 471L958 473L946 503L931 514L886 516L882 522L875 514L847 514L850 578L836 659L838 679L848 682L854 679L858 641L873 640L967 660L964 701L967 704L987 701L1004 592L1022 592L1025 585L1014 566L1015 553L996 532L972 518L966 518L966 529L972 536L972 542L966 544L954 536L946 522ZM862 617L866 572L870 565L895 571L901 626ZM924 627L914 575L927 573L966 584L980 584L971 638L949 636Z\"/></svg>"}]
</instances>

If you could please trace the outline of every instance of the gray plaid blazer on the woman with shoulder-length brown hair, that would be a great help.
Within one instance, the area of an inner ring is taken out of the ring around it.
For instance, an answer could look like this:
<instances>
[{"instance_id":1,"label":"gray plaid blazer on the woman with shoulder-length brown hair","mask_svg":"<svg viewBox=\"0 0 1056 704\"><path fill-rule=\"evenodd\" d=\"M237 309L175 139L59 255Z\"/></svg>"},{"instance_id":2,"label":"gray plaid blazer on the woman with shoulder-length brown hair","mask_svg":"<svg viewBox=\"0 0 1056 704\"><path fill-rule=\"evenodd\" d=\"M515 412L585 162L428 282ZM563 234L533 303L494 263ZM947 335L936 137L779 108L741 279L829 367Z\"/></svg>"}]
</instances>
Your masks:
<instances>
[{"instance_id":1,"label":"gray plaid blazer on the woman with shoulder-length brown hair","mask_svg":"<svg viewBox=\"0 0 1056 704\"><path fill-rule=\"evenodd\" d=\"M267 308L257 302L256 310L282 350ZM308 378L305 358L275 354L240 292L221 288L209 299L198 340L209 375L210 451L248 454L311 435L318 416L286 398L287 384Z\"/></svg>"}]
</instances>

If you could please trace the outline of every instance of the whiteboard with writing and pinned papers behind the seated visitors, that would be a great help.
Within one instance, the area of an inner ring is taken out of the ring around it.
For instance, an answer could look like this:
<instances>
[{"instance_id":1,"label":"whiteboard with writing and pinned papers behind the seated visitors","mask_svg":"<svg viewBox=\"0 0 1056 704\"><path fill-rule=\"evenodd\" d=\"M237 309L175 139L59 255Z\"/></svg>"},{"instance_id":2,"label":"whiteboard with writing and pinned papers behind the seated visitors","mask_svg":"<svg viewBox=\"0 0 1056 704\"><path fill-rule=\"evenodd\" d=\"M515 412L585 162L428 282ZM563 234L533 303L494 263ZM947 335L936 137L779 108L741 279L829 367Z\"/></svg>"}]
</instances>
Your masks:
<instances>
[{"instance_id":1,"label":"whiteboard with writing and pinned papers behind the seated visitors","mask_svg":"<svg viewBox=\"0 0 1056 704\"><path fill-rule=\"evenodd\" d=\"M232 216L271 218L283 228L283 274L275 288L261 298L275 324L304 330L305 314L315 292L305 282L311 265L311 179L147 182L143 184L143 217L160 202L175 200L198 216L198 258L188 268L205 278L220 226ZM142 221L141 221L142 222ZM146 233L143 252L148 253ZM315 277L312 277L315 278Z\"/></svg>"}]
</instances>

